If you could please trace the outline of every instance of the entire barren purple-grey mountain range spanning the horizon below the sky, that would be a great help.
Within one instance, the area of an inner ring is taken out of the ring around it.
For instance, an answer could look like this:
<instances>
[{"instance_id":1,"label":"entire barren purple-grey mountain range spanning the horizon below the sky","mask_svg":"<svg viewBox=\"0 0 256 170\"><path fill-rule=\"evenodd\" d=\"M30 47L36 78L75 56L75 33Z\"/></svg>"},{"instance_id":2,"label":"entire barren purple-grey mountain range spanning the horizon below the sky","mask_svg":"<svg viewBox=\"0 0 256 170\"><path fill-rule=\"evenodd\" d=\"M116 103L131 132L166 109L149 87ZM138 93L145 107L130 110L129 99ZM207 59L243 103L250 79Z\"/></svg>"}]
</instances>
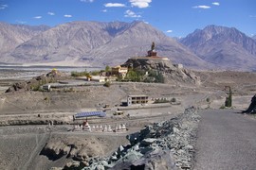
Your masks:
<instances>
[{"instance_id":1,"label":"entire barren purple-grey mountain range spanning the horizon below the sky","mask_svg":"<svg viewBox=\"0 0 256 170\"><path fill-rule=\"evenodd\" d=\"M256 41L235 28L207 26L175 40L138 21L71 22L54 27L0 23L0 62L114 66L146 56L152 42L158 56L190 68L255 68Z\"/></svg>"}]
</instances>

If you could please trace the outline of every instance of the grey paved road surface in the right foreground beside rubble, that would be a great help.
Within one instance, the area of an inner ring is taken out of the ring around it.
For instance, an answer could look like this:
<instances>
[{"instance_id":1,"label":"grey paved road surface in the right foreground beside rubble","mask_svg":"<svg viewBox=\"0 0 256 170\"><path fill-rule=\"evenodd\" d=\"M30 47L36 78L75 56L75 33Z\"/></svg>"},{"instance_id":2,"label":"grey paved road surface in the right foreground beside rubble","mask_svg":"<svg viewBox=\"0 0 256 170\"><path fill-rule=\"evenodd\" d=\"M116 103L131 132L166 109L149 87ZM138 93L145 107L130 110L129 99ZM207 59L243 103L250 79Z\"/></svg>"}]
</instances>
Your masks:
<instances>
[{"instance_id":1,"label":"grey paved road surface in the right foreground beside rubble","mask_svg":"<svg viewBox=\"0 0 256 170\"><path fill-rule=\"evenodd\" d=\"M237 110L202 110L194 170L255 170L256 119Z\"/></svg>"}]
</instances>

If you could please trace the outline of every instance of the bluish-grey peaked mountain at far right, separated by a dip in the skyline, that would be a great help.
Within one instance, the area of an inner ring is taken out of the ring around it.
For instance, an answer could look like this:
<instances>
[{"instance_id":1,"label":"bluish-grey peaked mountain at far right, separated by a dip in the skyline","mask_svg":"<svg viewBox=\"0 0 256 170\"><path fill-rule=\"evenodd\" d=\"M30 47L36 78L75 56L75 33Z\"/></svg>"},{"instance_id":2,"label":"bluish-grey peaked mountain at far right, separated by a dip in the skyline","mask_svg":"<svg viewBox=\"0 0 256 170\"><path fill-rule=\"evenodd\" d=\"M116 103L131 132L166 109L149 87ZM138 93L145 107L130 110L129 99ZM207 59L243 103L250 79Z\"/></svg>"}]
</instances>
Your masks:
<instances>
[{"instance_id":1,"label":"bluish-grey peaked mountain at far right, separated by a dip in the skyline","mask_svg":"<svg viewBox=\"0 0 256 170\"><path fill-rule=\"evenodd\" d=\"M233 27L196 29L180 42L216 66L227 69L253 69L256 66L256 42Z\"/></svg>"}]
</instances>

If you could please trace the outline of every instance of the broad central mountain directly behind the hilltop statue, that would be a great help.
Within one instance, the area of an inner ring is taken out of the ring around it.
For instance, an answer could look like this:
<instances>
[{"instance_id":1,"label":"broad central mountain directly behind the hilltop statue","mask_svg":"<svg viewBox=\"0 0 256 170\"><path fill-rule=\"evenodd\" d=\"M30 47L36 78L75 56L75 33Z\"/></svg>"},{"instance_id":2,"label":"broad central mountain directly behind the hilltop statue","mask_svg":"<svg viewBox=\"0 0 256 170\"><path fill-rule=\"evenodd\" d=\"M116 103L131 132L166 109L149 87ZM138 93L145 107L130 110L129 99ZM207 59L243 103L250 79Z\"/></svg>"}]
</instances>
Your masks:
<instances>
[{"instance_id":1,"label":"broad central mountain directly behind the hilltop statue","mask_svg":"<svg viewBox=\"0 0 256 170\"><path fill-rule=\"evenodd\" d=\"M16 38L17 34L13 35ZM145 56L152 42L159 56L192 67L207 65L187 47L143 22L72 22L55 26L27 37L3 60L41 63L76 60L94 66L115 65L131 57Z\"/></svg>"}]
</instances>

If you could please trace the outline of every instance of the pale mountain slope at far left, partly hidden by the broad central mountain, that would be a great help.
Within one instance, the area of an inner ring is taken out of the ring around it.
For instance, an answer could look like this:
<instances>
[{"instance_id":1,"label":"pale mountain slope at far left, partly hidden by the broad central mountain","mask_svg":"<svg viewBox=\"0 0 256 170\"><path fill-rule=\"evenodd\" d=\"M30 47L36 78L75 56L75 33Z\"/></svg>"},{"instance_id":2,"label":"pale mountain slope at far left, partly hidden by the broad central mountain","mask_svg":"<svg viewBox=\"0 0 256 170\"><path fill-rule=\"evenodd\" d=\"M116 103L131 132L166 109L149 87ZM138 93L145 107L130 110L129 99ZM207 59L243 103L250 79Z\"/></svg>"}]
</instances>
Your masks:
<instances>
[{"instance_id":1,"label":"pale mountain slope at far left, partly hidden by the broad central mountain","mask_svg":"<svg viewBox=\"0 0 256 170\"><path fill-rule=\"evenodd\" d=\"M0 23L1 57L15 49L21 43L27 42L32 37L46 31L48 28L49 26L25 26Z\"/></svg>"}]
</instances>

